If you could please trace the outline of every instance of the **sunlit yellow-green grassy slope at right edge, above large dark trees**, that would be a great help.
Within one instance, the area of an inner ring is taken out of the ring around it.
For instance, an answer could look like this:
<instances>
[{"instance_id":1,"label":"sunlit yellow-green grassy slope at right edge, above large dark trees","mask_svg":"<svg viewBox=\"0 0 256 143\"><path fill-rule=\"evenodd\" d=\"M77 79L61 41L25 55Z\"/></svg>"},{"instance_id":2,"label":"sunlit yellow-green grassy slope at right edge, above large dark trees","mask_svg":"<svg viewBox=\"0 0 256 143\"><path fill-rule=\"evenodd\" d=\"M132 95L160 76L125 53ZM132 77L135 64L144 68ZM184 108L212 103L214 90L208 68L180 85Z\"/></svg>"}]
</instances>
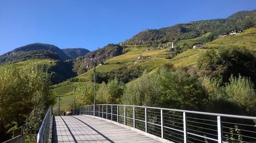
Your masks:
<instances>
[{"instance_id":1,"label":"sunlit yellow-green grassy slope at right edge, above large dark trees","mask_svg":"<svg viewBox=\"0 0 256 143\"><path fill-rule=\"evenodd\" d=\"M242 34L227 36L207 43L206 48L222 48L227 46L240 46L256 50L256 28L245 30Z\"/></svg>"}]
</instances>

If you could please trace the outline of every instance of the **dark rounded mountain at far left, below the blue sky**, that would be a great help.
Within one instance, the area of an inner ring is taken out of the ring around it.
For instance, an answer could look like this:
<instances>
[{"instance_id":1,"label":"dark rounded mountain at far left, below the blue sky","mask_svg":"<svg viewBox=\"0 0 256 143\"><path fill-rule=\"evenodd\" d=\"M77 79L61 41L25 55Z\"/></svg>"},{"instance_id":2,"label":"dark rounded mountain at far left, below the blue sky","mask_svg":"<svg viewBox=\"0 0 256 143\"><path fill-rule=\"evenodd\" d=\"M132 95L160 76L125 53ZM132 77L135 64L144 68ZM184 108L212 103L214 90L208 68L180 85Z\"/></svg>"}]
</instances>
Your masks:
<instances>
[{"instance_id":1,"label":"dark rounded mountain at far left, below the blue sky","mask_svg":"<svg viewBox=\"0 0 256 143\"><path fill-rule=\"evenodd\" d=\"M31 59L53 59L66 61L71 59L60 48L43 43L33 43L16 48L10 52L0 55L0 63L20 62Z\"/></svg>"}]
</instances>

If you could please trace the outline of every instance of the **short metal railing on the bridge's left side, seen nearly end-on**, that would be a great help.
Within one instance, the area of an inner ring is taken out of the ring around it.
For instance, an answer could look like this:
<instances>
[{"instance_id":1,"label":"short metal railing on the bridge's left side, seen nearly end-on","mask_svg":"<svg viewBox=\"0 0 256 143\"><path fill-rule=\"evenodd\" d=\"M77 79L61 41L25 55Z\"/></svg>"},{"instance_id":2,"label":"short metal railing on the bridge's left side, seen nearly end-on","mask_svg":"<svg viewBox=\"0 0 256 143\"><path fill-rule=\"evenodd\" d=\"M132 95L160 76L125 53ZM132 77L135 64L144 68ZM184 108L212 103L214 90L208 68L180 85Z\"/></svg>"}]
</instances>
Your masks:
<instances>
[{"instance_id":1,"label":"short metal railing on the bridge's left side, seen nearly end-on","mask_svg":"<svg viewBox=\"0 0 256 143\"><path fill-rule=\"evenodd\" d=\"M42 125L37 134L37 143L51 142L52 133L52 107L46 113Z\"/></svg>"}]
</instances>

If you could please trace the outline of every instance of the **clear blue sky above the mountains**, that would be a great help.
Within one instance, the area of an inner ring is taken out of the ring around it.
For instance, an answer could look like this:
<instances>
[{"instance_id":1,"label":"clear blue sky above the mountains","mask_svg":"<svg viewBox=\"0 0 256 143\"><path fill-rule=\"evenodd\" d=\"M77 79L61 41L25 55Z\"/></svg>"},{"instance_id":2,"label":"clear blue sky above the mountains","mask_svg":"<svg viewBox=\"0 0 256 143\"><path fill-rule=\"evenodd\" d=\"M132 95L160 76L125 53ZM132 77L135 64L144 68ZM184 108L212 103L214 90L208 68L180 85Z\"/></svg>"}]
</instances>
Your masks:
<instances>
[{"instance_id":1,"label":"clear blue sky above the mountains","mask_svg":"<svg viewBox=\"0 0 256 143\"><path fill-rule=\"evenodd\" d=\"M95 50L147 28L254 9L254 0L1 0L0 55L35 42Z\"/></svg>"}]
</instances>

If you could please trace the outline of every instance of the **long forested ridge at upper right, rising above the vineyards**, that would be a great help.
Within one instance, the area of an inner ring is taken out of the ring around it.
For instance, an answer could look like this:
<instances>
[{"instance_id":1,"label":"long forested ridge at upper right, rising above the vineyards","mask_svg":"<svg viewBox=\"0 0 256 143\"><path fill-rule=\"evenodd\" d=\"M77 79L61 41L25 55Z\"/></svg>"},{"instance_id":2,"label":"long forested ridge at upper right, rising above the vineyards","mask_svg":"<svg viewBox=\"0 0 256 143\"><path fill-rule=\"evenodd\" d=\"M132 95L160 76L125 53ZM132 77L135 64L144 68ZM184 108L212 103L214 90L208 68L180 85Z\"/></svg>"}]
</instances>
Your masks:
<instances>
[{"instance_id":1,"label":"long forested ridge at upper right, rising above the vineyards","mask_svg":"<svg viewBox=\"0 0 256 143\"><path fill-rule=\"evenodd\" d=\"M192 21L158 30L142 31L131 39L126 40L125 44L157 47L158 44L168 41L196 38L208 32L211 32L212 34L210 36L214 37L222 33L227 33L230 30L245 30L253 26L256 26L256 10L241 11L225 19Z\"/></svg>"}]
</instances>

